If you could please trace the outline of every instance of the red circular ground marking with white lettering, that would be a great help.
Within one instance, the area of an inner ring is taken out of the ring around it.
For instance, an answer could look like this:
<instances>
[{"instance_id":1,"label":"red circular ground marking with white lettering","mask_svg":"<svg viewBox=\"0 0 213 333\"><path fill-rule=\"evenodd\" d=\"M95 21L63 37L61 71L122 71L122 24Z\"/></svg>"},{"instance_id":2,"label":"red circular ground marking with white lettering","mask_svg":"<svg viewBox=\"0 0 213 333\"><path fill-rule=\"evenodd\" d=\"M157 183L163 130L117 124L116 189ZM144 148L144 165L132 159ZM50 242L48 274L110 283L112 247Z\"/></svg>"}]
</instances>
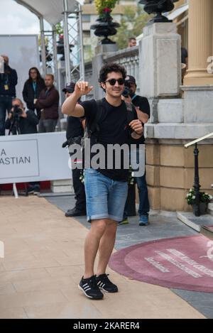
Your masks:
<instances>
[{"instance_id":1,"label":"red circular ground marking with white lettering","mask_svg":"<svg viewBox=\"0 0 213 333\"><path fill-rule=\"evenodd\" d=\"M109 266L146 283L213 293L213 241L201 235L130 246L114 253Z\"/></svg>"}]
</instances>

